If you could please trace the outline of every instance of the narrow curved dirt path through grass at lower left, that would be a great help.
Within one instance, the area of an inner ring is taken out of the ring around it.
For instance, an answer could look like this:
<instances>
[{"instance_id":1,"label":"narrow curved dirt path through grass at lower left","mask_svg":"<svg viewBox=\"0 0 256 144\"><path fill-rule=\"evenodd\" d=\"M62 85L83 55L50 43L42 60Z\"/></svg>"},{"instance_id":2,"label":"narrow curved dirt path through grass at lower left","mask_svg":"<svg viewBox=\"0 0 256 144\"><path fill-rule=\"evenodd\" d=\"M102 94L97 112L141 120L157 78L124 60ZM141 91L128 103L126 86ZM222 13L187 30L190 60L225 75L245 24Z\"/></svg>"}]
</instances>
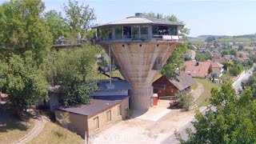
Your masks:
<instances>
[{"instance_id":1,"label":"narrow curved dirt path through grass at lower left","mask_svg":"<svg viewBox=\"0 0 256 144\"><path fill-rule=\"evenodd\" d=\"M45 124L46 124L46 120L44 118L42 118L41 116L39 116L38 118L36 118L35 126L30 131L30 133L26 134L23 138L20 138L18 141L14 142L13 144L29 142L31 139L33 139L38 134L40 134L40 132L42 131Z\"/></svg>"}]
</instances>

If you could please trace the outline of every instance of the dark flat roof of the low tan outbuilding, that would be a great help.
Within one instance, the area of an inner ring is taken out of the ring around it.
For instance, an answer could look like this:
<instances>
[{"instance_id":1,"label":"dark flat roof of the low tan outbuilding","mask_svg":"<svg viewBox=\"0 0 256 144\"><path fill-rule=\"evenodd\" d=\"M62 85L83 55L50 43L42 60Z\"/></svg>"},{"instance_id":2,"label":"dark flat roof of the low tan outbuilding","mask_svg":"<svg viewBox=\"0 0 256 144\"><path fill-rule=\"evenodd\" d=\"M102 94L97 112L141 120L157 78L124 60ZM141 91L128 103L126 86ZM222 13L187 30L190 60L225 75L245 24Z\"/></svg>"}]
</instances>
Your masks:
<instances>
[{"instance_id":1,"label":"dark flat roof of the low tan outbuilding","mask_svg":"<svg viewBox=\"0 0 256 144\"><path fill-rule=\"evenodd\" d=\"M74 114L86 115L89 118L101 113L104 110L109 109L117 105L119 102L122 102L125 98L129 96L102 96L92 99L89 105L80 105L72 107L56 107L57 110L64 110Z\"/></svg>"}]
</instances>

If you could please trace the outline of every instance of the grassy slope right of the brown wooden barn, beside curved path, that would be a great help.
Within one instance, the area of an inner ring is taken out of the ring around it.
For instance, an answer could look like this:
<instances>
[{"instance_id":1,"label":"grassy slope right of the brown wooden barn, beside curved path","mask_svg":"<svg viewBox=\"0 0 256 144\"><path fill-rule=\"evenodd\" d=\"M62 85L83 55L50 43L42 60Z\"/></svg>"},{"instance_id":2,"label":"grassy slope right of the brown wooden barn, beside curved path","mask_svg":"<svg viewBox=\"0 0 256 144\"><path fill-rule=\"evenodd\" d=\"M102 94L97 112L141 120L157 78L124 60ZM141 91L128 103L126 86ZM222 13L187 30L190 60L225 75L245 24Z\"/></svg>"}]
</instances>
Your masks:
<instances>
[{"instance_id":1,"label":"grassy slope right of the brown wooden barn, beside curved path","mask_svg":"<svg viewBox=\"0 0 256 144\"><path fill-rule=\"evenodd\" d=\"M210 82L210 81L206 81L205 79L201 79L201 78L194 78L196 82L202 83L202 86L204 88L204 91L202 92L202 94L200 95L200 97L196 100L196 104L198 106L208 106L210 105L210 90L212 88L218 88L218 85Z\"/></svg>"}]
</instances>

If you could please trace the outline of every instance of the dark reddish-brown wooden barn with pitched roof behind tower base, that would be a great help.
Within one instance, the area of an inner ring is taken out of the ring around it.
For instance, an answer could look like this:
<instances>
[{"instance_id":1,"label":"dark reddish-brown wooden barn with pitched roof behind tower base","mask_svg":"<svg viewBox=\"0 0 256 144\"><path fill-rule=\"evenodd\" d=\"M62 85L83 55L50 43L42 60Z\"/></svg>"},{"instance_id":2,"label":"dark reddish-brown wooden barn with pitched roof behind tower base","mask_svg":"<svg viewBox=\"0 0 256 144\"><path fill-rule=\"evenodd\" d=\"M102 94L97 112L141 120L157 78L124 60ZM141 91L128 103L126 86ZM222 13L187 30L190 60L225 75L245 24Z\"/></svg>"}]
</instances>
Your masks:
<instances>
[{"instance_id":1,"label":"dark reddish-brown wooden barn with pitched roof behind tower base","mask_svg":"<svg viewBox=\"0 0 256 144\"><path fill-rule=\"evenodd\" d=\"M158 97L174 96L178 91L190 90L190 86L194 84L194 79L184 72L177 75L176 78L170 79L165 75L153 82L154 94Z\"/></svg>"}]
</instances>

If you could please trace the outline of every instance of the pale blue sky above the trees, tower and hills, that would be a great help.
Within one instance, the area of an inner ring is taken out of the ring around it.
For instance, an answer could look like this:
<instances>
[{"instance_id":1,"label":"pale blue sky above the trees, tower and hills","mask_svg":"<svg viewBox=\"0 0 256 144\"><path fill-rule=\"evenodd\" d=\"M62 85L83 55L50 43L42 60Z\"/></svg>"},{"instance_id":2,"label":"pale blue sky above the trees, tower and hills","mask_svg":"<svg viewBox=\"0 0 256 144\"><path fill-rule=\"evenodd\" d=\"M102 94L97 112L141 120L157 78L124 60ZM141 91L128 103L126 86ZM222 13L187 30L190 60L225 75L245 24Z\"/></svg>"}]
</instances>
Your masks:
<instances>
[{"instance_id":1,"label":"pale blue sky above the trees, tower and hills","mask_svg":"<svg viewBox=\"0 0 256 144\"><path fill-rule=\"evenodd\" d=\"M0 0L0 3L4 0ZM46 10L62 10L67 0L42 0ZM154 11L174 14L190 28L190 36L201 34L256 33L256 1L246 0L77 0L94 8L99 24Z\"/></svg>"}]
</instances>

